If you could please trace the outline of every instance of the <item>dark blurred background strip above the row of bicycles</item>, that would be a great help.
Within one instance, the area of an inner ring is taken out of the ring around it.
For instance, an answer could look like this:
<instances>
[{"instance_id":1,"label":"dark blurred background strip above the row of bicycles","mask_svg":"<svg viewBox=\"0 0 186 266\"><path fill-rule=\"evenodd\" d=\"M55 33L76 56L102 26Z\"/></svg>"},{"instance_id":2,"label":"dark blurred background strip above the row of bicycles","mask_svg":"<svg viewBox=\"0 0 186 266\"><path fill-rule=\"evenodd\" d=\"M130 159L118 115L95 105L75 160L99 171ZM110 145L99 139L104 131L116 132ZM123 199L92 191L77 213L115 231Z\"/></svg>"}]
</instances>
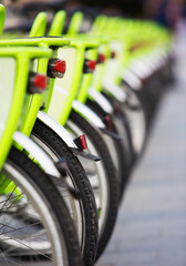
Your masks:
<instances>
[{"instance_id":1,"label":"dark blurred background strip above the row of bicycles","mask_svg":"<svg viewBox=\"0 0 186 266\"><path fill-rule=\"evenodd\" d=\"M42 10L42 3L45 2L72 12L90 8L95 13L97 11L111 16L120 14L130 18L155 20L172 29L176 27L180 18L183 19L186 16L186 1L184 0L2 0L1 2L14 10L22 8L23 4L33 2L37 2L39 10Z\"/></svg>"}]
</instances>

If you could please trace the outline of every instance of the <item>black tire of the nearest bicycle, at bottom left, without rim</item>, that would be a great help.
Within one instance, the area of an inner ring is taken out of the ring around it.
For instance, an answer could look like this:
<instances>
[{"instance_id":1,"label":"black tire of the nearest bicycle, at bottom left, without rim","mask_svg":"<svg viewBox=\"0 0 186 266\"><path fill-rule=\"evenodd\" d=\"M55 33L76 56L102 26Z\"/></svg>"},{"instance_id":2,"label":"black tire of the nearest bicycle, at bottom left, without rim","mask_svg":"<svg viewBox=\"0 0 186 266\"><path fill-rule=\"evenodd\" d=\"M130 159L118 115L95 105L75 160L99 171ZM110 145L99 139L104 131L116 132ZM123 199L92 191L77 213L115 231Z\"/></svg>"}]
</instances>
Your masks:
<instances>
[{"instance_id":1,"label":"black tire of the nearest bicycle, at bottom left, without rim","mask_svg":"<svg viewBox=\"0 0 186 266\"><path fill-rule=\"evenodd\" d=\"M82 265L80 258L78 236L74 233L75 228L73 222L65 206L65 203L61 201L61 195L59 194L51 180L38 165L35 165L31 160L29 160L25 154L23 154L16 147L11 149L8 161L14 167L17 167L18 171L25 173L25 175L29 176L29 178L37 184L39 190L50 202L51 209L56 217L56 221L61 228L61 233L63 234L65 241L69 265Z\"/></svg>"}]
</instances>

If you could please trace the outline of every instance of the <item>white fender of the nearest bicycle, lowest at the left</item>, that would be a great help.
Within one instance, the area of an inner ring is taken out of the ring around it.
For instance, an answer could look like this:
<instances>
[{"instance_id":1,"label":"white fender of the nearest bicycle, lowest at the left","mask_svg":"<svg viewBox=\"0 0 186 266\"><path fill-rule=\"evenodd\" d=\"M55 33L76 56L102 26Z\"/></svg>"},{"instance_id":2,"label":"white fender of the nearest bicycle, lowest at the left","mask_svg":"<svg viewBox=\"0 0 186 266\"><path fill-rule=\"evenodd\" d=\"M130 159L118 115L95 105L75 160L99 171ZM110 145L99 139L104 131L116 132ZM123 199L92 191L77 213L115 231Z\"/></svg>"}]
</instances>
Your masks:
<instances>
[{"instance_id":1,"label":"white fender of the nearest bicycle, lowest at the left","mask_svg":"<svg viewBox=\"0 0 186 266\"><path fill-rule=\"evenodd\" d=\"M49 175L61 177L60 172L54 166L52 160L46 153L31 139L22 134L21 132L14 132L13 140L20 144L27 152L29 152L42 166L44 172Z\"/></svg>"}]
</instances>

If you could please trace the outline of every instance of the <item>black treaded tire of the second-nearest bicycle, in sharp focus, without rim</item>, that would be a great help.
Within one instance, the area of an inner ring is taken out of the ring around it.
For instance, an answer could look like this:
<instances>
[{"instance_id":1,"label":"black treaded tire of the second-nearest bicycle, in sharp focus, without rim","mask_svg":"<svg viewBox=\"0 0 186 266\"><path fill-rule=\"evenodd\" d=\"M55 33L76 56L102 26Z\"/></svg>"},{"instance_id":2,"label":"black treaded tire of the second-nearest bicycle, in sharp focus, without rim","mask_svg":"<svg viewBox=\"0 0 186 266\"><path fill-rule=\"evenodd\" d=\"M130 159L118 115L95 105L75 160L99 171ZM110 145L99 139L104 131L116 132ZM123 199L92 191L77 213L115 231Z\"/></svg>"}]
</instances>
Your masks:
<instances>
[{"instance_id":1,"label":"black treaded tire of the second-nearest bicycle, in sharp focus, without rim","mask_svg":"<svg viewBox=\"0 0 186 266\"><path fill-rule=\"evenodd\" d=\"M64 141L40 120L37 120L34 124L32 136L34 136L34 141L37 141L35 137L42 141L58 158L64 156L68 161L70 176L81 194L80 201L84 212L84 214L82 212L82 215L84 215L83 221L85 222L85 239L82 247L83 260L86 266L92 266L96 256L99 224L94 195L84 168ZM40 145L40 143L38 144Z\"/></svg>"}]
</instances>

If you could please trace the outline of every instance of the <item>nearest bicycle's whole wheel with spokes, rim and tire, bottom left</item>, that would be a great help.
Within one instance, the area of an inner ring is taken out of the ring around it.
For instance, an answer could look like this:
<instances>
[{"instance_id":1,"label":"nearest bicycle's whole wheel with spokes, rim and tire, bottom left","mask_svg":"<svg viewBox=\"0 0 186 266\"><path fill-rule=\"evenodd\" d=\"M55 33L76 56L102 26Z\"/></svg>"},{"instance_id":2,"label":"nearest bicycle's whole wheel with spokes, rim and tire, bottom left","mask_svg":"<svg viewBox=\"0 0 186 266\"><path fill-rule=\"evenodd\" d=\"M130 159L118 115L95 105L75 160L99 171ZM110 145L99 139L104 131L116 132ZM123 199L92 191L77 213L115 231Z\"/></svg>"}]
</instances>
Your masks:
<instances>
[{"instance_id":1,"label":"nearest bicycle's whole wheel with spokes, rim and tire, bottom left","mask_svg":"<svg viewBox=\"0 0 186 266\"><path fill-rule=\"evenodd\" d=\"M4 265L82 265L75 229L53 183L12 147L1 173L0 260ZM45 262L45 260L44 260ZM1 265L2 265L1 264Z\"/></svg>"}]
</instances>

